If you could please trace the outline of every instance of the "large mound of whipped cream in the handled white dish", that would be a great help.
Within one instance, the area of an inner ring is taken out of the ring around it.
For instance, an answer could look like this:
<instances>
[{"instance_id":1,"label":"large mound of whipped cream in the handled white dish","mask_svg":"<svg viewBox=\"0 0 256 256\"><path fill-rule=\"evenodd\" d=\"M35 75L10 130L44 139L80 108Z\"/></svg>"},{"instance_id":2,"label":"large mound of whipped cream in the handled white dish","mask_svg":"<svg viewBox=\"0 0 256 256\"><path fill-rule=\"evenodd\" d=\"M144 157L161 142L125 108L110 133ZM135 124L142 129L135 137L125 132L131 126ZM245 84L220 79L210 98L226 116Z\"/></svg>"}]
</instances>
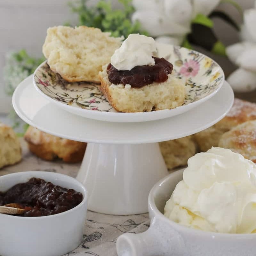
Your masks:
<instances>
[{"instance_id":1,"label":"large mound of whipped cream in the handled white dish","mask_svg":"<svg viewBox=\"0 0 256 256\"><path fill-rule=\"evenodd\" d=\"M256 165L224 148L192 156L164 215L204 231L255 233Z\"/></svg>"}]
</instances>

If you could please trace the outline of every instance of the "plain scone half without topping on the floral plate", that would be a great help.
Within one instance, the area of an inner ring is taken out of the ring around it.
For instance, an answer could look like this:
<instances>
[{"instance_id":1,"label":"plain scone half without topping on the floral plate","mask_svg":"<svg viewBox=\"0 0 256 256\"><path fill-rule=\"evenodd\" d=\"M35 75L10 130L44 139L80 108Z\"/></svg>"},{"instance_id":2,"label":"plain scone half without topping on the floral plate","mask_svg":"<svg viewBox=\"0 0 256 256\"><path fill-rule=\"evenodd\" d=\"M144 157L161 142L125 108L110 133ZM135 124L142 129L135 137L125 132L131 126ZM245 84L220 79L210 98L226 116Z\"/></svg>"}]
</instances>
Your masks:
<instances>
[{"instance_id":1,"label":"plain scone half without topping on the floral plate","mask_svg":"<svg viewBox=\"0 0 256 256\"><path fill-rule=\"evenodd\" d=\"M52 27L47 29L43 53L52 71L65 80L100 83L99 71L109 63L122 39L99 28Z\"/></svg>"}]
</instances>

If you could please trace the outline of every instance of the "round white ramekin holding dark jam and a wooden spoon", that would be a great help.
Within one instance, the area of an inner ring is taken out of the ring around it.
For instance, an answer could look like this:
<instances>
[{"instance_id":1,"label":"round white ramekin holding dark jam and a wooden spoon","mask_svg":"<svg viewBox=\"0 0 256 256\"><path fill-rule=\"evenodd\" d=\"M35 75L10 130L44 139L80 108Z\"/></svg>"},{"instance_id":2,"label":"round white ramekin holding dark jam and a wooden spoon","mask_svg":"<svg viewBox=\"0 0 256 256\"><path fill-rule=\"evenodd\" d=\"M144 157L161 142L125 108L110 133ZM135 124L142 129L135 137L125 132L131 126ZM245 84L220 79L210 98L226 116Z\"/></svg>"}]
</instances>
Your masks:
<instances>
[{"instance_id":1,"label":"round white ramekin holding dark jam and a wooden spoon","mask_svg":"<svg viewBox=\"0 0 256 256\"><path fill-rule=\"evenodd\" d=\"M76 179L53 172L17 172L0 177L0 191L36 177L83 194L76 207L55 215L19 217L0 214L1 256L60 256L74 250L83 238L87 191Z\"/></svg>"}]
</instances>

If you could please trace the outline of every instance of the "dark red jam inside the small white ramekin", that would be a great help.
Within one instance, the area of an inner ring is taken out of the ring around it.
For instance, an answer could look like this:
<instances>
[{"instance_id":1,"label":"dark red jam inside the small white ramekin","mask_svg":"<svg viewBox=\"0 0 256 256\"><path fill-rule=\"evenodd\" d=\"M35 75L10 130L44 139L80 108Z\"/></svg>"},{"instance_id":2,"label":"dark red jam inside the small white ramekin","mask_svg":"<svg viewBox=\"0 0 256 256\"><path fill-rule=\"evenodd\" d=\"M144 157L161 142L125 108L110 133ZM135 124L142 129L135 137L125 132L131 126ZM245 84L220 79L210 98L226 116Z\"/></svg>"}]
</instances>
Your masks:
<instances>
[{"instance_id":1,"label":"dark red jam inside the small white ramekin","mask_svg":"<svg viewBox=\"0 0 256 256\"><path fill-rule=\"evenodd\" d=\"M26 212L19 216L38 217L68 211L80 204L83 195L74 189L55 186L42 179L31 178L0 192L0 205L17 203Z\"/></svg>"}]
</instances>

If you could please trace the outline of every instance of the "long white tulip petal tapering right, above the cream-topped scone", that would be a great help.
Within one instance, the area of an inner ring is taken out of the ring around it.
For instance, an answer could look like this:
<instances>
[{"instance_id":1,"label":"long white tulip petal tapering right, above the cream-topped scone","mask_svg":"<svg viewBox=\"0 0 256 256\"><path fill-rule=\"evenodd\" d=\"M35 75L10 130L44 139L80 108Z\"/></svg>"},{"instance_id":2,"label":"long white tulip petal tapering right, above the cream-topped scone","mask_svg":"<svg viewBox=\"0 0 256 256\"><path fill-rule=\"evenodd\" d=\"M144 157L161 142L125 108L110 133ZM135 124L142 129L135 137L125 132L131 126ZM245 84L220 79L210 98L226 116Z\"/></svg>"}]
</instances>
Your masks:
<instances>
[{"instance_id":1,"label":"long white tulip petal tapering right, above the cream-topped scone","mask_svg":"<svg viewBox=\"0 0 256 256\"><path fill-rule=\"evenodd\" d=\"M163 17L155 11L137 11L132 15L132 21L140 21L142 29L145 29L150 36L181 35L189 32L189 27L175 23L173 20Z\"/></svg>"}]
</instances>

